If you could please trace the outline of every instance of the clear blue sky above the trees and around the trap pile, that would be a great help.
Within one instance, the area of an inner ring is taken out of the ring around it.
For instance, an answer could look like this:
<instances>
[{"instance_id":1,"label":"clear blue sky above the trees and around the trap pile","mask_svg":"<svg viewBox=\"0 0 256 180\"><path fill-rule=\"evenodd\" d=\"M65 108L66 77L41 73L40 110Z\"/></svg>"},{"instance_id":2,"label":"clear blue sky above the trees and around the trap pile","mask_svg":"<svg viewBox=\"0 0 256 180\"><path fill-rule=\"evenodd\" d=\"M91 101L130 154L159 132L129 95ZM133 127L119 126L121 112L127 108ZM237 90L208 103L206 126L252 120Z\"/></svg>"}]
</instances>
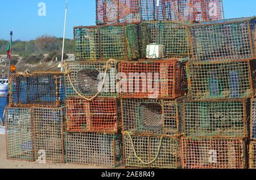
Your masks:
<instances>
[{"instance_id":1,"label":"clear blue sky above the trees and around the trap pile","mask_svg":"<svg viewBox=\"0 0 256 180\"><path fill-rule=\"evenodd\" d=\"M38 16L38 4L46 3L46 16ZM94 25L95 0L69 0L67 38L73 38L73 27ZM224 0L225 18L256 15L255 0ZM32 40L41 35L63 36L65 0L0 0L0 39Z\"/></svg>"}]
</instances>

